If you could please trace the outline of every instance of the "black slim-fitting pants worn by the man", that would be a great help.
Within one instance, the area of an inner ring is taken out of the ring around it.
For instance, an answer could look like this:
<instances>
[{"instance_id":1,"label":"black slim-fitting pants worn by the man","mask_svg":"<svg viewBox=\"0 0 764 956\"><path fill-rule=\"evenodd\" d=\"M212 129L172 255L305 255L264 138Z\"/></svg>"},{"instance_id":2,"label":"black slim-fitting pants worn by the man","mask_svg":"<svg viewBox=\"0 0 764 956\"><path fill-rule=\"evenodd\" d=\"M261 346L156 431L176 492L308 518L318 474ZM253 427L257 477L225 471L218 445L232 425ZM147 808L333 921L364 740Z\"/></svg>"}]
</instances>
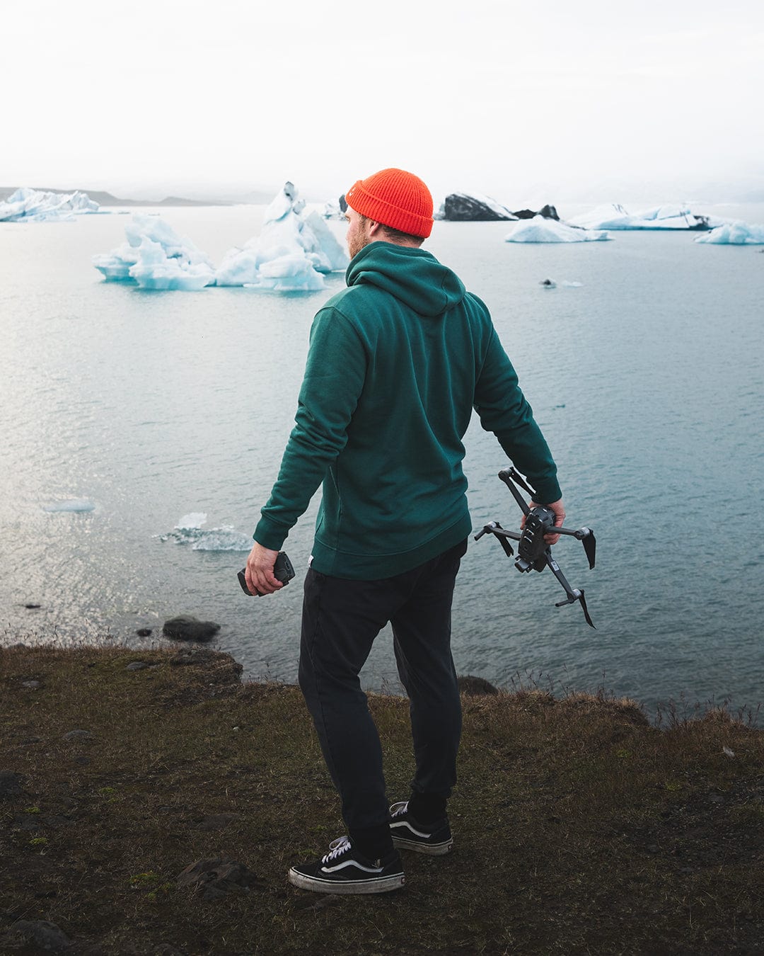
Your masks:
<instances>
[{"instance_id":1,"label":"black slim-fitting pants worn by the man","mask_svg":"<svg viewBox=\"0 0 764 956\"><path fill-rule=\"evenodd\" d=\"M462 541L413 571L373 581L308 569L300 687L351 836L386 826L390 818L382 748L358 679L388 621L398 674L410 699L412 789L448 797L456 783L461 703L451 656L451 604L466 550Z\"/></svg>"}]
</instances>

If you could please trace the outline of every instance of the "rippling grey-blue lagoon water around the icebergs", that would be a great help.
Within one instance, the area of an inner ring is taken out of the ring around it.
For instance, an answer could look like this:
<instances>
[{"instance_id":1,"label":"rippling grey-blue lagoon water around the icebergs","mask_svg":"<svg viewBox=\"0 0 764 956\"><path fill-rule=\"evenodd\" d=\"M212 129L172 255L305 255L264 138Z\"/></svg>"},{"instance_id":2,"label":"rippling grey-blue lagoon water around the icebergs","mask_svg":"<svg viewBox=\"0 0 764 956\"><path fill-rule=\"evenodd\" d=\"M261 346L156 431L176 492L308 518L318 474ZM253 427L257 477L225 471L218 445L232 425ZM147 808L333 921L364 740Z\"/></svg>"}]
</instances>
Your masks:
<instances>
[{"instance_id":1,"label":"rippling grey-blue lagoon water around the icebergs","mask_svg":"<svg viewBox=\"0 0 764 956\"><path fill-rule=\"evenodd\" d=\"M162 215L220 261L262 211ZM734 214L764 222L761 207ZM286 541L298 578L278 597L244 597L236 572L291 427L312 315L343 277L281 297L141 293L90 265L124 222L0 224L0 641L108 633L141 647L188 613L222 625L217 646L245 676L294 681L317 500ZM458 671L604 685L648 708L680 696L755 706L764 255L682 233L519 246L506 232L438 224L428 248L492 309L557 458L567 523L595 529L594 571L573 539L555 553L597 630L578 606L555 608L564 595L548 572L520 576L486 537L457 582ZM546 277L558 287L541 288ZM499 445L477 421L466 444L475 528L512 526ZM389 633L364 680L397 688Z\"/></svg>"}]
</instances>

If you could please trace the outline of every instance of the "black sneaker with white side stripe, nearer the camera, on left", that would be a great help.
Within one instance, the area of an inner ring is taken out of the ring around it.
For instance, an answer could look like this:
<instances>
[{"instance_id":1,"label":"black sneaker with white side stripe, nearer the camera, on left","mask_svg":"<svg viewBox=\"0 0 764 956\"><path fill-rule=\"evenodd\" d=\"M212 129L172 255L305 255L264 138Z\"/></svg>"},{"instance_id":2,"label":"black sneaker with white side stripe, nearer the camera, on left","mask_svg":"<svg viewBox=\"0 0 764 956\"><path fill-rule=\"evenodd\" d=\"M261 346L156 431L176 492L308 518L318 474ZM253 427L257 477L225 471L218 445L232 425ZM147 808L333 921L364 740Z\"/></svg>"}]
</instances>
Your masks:
<instances>
[{"instance_id":1,"label":"black sneaker with white side stripe, nearer the camera, on left","mask_svg":"<svg viewBox=\"0 0 764 956\"><path fill-rule=\"evenodd\" d=\"M406 882L400 854L367 859L353 850L347 836L329 843L326 857L289 870L289 882L315 893L387 893Z\"/></svg>"}]
</instances>

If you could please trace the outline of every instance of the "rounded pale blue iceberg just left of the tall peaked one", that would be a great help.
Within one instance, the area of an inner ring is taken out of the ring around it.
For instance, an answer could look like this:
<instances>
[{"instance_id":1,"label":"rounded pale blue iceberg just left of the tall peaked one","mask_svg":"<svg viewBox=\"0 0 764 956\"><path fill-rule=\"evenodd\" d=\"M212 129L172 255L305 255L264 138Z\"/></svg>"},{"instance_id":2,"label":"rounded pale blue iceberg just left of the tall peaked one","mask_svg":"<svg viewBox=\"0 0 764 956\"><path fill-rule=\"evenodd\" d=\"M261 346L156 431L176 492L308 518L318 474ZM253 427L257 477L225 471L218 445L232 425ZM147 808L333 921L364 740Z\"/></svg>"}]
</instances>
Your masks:
<instances>
[{"instance_id":1,"label":"rounded pale blue iceberg just left of the tall peaked one","mask_svg":"<svg viewBox=\"0 0 764 956\"><path fill-rule=\"evenodd\" d=\"M127 242L122 246L93 256L93 265L108 281L188 292L214 282L215 270L207 256L159 216L134 213L125 235Z\"/></svg>"}]
</instances>

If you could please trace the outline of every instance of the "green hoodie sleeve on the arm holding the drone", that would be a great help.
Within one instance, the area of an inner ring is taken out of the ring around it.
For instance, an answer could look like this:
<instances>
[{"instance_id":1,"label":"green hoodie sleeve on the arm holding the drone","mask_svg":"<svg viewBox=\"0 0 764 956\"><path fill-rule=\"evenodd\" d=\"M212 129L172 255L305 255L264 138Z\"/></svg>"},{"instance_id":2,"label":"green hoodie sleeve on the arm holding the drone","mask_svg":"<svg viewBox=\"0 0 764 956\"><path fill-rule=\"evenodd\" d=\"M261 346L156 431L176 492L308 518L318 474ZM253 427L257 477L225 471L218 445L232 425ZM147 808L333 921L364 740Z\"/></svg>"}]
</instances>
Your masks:
<instances>
[{"instance_id":1,"label":"green hoodie sleeve on the arm holding the drone","mask_svg":"<svg viewBox=\"0 0 764 956\"><path fill-rule=\"evenodd\" d=\"M552 453L493 327L477 377L475 408L480 424L499 439L499 445L539 495L539 503L549 504L562 498Z\"/></svg>"}]
</instances>

